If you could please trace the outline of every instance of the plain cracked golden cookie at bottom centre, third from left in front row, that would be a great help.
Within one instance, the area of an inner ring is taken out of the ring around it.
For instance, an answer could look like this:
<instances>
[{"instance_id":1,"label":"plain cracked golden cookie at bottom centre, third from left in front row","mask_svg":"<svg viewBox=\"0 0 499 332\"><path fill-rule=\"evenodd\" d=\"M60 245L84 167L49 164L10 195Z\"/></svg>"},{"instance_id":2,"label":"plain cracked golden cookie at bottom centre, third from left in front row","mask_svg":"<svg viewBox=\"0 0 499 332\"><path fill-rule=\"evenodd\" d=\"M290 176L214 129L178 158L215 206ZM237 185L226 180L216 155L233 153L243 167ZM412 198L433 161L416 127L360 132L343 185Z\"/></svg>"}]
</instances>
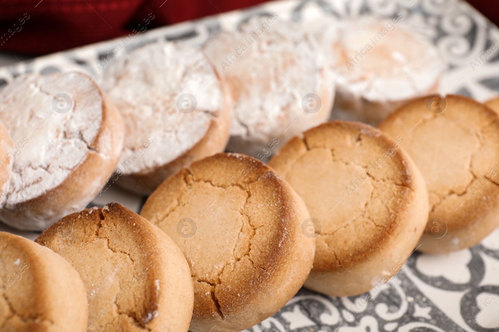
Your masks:
<instances>
[{"instance_id":1,"label":"plain cracked golden cookie at bottom centre, third from left in front row","mask_svg":"<svg viewBox=\"0 0 499 332\"><path fill-rule=\"evenodd\" d=\"M300 289L315 241L289 185L242 154L191 164L149 196L141 215L180 246L194 282L192 332L237 332L273 315Z\"/></svg>"}]
</instances>

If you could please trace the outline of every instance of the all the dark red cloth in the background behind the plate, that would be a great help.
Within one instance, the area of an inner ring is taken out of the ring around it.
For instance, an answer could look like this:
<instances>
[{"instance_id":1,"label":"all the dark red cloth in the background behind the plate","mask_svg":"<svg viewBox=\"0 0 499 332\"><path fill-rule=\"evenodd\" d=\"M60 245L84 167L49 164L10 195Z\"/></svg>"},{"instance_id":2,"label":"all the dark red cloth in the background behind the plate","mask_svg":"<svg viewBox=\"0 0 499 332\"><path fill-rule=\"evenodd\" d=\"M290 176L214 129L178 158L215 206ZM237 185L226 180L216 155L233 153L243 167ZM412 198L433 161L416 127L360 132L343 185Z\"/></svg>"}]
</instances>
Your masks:
<instances>
[{"instance_id":1,"label":"all the dark red cloth in the background behind the plate","mask_svg":"<svg viewBox=\"0 0 499 332\"><path fill-rule=\"evenodd\" d=\"M149 13L154 15L151 28L264 1L0 0L0 51L46 54L127 35ZM496 1L469 2L499 23Z\"/></svg>"}]
</instances>

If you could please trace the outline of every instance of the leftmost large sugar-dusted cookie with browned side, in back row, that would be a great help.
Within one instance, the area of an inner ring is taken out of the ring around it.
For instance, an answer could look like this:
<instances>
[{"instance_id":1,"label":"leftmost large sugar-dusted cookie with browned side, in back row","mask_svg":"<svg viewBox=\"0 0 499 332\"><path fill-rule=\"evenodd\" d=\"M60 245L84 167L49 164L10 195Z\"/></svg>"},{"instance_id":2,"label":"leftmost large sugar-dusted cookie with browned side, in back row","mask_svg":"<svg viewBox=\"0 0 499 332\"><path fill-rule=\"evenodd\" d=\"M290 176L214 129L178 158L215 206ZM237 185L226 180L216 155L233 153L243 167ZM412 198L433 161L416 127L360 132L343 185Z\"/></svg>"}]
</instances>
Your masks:
<instances>
[{"instance_id":1,"label":"leftmost large sugar-dusted cookie with browned side, in back row","mask_svg":"<svg viewBox=\"0 0 499 332\"><path fill-rule=\"evenodd\" d=\"M121 116L85 74L15 78L0 92L0 120L18 148L0 220L17 229L81 210L121 155Z\"/></svg>"}]
</instances>

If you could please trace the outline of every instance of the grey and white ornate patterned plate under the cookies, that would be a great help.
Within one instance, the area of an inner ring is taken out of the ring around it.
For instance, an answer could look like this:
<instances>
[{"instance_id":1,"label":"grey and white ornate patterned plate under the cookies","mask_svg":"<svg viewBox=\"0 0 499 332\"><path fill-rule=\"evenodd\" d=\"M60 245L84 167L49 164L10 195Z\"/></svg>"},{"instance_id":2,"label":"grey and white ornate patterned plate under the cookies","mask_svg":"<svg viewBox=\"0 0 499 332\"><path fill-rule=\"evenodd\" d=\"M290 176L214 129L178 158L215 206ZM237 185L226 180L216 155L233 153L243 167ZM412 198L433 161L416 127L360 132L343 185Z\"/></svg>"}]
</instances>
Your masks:
<instances>
[{"instance_id":1,"label":"grey and white ornate patterned plate under the cookies","mask_svg":"<svg viewBox=\"0 0 499 332\"><path fill-rule=\"evenodd\" d=\"M50 54L0 68L0 87L20 73L79 70L98 76L114 58L158 38L202 45L222 27L234 29L255 14L314 22L327 16L356 20L361 15L392 17L426 35L448 64L440 90L479 101L499 92L499 30L462 0L284 0L173 26L149 29L154 13L127 37ZM147 24L146 24L147 22ZM139 212L143 197L112 181L89 204L118 201ZM33 232L21 232L33 239ZM499 229L480 245L448 255L413 253L386 284L355 297L336 298L301 289L274 316L251 332L459 332L499 331Z\"/></svg>"}]
</instances>

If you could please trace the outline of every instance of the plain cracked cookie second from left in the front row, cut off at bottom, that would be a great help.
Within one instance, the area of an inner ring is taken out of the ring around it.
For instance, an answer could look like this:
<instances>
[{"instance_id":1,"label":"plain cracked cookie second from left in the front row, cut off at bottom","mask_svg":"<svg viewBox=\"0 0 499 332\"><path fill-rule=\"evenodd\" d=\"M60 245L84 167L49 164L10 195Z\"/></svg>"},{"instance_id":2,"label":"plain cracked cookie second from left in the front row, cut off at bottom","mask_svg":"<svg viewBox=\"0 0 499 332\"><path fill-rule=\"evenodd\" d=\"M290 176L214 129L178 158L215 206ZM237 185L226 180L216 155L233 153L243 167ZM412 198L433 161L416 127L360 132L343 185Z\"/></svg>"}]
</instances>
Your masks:
<instances>
[{"instance_id":1,"label":"plain cracked cookie second from left in the front row, cut off at bottom","mask_svg":"<svg viewBox=\"0 0 499 332\"><path fill-rule=\"evenodd\" d=\"M36 239L74 266L88 297L88 332L187 332L189 266L149 221L109 203L66 216Z\"/></svg>"}]
</instances>

